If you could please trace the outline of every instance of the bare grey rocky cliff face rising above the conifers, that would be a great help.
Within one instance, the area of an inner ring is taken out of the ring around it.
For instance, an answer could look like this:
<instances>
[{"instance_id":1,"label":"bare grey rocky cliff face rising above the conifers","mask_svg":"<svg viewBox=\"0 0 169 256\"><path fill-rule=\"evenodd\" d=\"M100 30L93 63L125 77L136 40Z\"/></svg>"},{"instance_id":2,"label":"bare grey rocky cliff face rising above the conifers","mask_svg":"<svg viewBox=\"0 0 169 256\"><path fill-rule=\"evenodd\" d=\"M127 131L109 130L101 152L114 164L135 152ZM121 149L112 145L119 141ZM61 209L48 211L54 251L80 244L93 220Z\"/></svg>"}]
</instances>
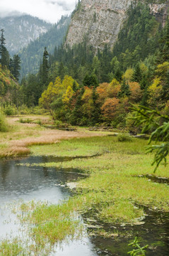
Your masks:
<instances>
[{"instance_id":1,"label":"bare grey rocky cliff face rising above the conifers","mask_svg":"<svg viewBox=\"0 0 169 256\"><path fill-rule=\"evenodd\" d=\"M66 44L72 47L86 38L95 49L103 49L105 43L113 46L131 3L132 0L81 0L71 20ZM157 15L165 4L158 4L157 0L150 7Z\"/></svg>"}]
</instances>

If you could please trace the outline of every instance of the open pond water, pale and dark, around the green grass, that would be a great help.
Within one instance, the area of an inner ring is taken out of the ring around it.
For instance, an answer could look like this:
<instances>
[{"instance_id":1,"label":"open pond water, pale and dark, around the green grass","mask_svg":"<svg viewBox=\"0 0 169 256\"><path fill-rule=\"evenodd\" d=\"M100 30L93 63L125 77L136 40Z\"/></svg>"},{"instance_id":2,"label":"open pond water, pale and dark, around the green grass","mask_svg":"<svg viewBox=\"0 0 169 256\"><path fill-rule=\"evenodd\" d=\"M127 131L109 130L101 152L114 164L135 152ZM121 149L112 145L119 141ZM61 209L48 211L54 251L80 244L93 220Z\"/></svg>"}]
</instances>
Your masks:
<instances>
[{"instance_id":1,"label":"open pond water, pale and dark, around the green grass","mask_svg":"<svg viewBox=\"0 0 169 256\"><path fill-rule=\"evenodd\" d=\"M84 178L79 170L52 169L47 167L23 166L20 164L44 163L47 161L70 161L70 158L56 158L38 156L25 159L0 161L0 238L12 238L22 236L23 226L11 210L21 202L47 201L58 204L71 196L71 191L66 186L68 182ZM169 215L145 209L147 216L142 225L105 225L107 231L118 230L117 238L99 238L95 235L88 237L86 234L81 240L73 240L62 243L56 252L57 256L123 256L131 249L128 243L138 235L143 244L150 245L147 255L169 255ZM83 216L83 221L86 221ZM95 223L91 223L91 225ZM88 228L90 230L90 228ZM91 228L91 233L93 228Z\"/></svg>"}]
</instances>

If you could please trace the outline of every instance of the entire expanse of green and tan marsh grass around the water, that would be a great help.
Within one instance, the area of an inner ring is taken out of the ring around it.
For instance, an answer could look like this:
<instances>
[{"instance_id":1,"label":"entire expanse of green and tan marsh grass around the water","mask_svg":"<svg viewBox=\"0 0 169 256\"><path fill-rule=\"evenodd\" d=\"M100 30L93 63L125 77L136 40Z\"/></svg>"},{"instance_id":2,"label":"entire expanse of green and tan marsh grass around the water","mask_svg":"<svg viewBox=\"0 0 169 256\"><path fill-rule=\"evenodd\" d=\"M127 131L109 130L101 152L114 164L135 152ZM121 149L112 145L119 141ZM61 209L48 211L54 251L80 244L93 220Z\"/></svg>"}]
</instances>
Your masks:
<instances>
[{"instance_id":1,"label":"entire expanse of green and tan marsh grass around the water","mask_svg":"<svg viewBox=\"0 0 169 256\"><path fill-rule=\"evenodd\" d=\"M1 152L16 144L34 156L69 156L71 161L33 166L59 167L63 171L78 169L87 175L76 182L74 196L57 206L42 203L30 210L23 204L21 220L33 227L31 233L37 247L44 248L47 242L54 245L79 235L83 228L76 218L78 214L87 214L88 218L107 225L139 225L145 218L145 208L169 211L169 186L145 177L148 174L169 178L169 167L161 164L153 174L153 154L145 154L146 140L126 137L121 141L118 136L108 136L110 132L88 132L86 129L63 132L37 124L15 125L11 135L1 134ZM17 156L18 151L13 155ZM118 234L107 234L101 229L98 235L113 238ZM0 255L5 250L3 246L7 246L6 242L0 245ZM20 245L17 246L21 250Z\"/></svg>"}]
</instances>

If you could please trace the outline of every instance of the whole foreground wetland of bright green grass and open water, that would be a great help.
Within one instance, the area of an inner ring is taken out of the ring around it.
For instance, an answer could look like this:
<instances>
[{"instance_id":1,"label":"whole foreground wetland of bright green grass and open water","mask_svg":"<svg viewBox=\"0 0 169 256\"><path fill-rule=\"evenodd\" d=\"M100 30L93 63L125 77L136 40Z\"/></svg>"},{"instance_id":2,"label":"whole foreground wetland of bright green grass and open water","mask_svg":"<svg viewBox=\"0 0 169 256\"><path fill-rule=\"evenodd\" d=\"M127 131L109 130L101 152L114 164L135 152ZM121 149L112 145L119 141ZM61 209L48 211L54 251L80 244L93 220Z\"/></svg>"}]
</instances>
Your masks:
<instances>
[{"instance_id":1,"label":"whole foreground wetland of bright green grass and open water","mask_svg":"<svg viewBox=\"0 0 169 256\"><path fill-rule=\"evenodd\" d=\"M146 255L168 255L168 166L153 174L145 140L103 135L1 160L0 255L123 256L136 236Z\"/></svg>"}]
</instances>

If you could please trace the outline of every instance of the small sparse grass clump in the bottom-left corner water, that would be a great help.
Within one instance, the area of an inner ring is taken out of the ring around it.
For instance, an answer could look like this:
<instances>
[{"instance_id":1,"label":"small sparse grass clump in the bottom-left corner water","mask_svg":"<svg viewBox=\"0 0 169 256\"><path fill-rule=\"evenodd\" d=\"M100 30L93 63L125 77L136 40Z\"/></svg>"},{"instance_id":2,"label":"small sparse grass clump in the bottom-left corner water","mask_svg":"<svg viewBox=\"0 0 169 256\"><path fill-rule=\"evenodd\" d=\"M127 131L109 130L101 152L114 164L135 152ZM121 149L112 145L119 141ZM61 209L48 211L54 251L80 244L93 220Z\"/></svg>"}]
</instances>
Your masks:
<instances>
[{"instance_id":1,"label":"small sparse grass clump in the bottom-left corner water","mask_svg":"<svg viewBox=\"0 0 169 256\"><path fill-rule=\"evenodd\" d=\"M25 255L23 247L21 246L21 241L17 238L13 240L3 240L0 243L0 255L1 256L17 256Z\"/></svg>"}]
</instances>

